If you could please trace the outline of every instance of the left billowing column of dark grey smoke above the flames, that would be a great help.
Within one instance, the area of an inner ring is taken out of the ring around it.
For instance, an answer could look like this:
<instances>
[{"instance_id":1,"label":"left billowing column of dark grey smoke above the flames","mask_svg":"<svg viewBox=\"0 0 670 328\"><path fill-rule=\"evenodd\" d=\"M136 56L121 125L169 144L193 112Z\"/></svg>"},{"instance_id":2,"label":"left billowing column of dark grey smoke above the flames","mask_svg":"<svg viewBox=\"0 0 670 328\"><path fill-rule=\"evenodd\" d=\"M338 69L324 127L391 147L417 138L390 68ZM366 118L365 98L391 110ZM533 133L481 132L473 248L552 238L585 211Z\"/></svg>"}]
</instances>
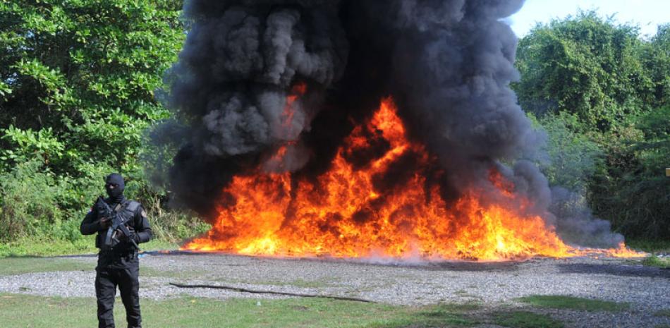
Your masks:
<instances>
[{"instance_id":1,"label":"left billowing column of dark grey smoke above the flames","mask_svg":"<svg viewBox=\"0 0 670 328\"><path fill-rule=\"evenodd\" d=\"M174 159L171 186L206 213L232 174L290 142L281 168L309 159L310 130L324 91L346 68L337 1L186 1L190 23L168 75L169 107L190 136ZM286 112L299 83L309 87Z\"/></svg>"}]
</instances>

